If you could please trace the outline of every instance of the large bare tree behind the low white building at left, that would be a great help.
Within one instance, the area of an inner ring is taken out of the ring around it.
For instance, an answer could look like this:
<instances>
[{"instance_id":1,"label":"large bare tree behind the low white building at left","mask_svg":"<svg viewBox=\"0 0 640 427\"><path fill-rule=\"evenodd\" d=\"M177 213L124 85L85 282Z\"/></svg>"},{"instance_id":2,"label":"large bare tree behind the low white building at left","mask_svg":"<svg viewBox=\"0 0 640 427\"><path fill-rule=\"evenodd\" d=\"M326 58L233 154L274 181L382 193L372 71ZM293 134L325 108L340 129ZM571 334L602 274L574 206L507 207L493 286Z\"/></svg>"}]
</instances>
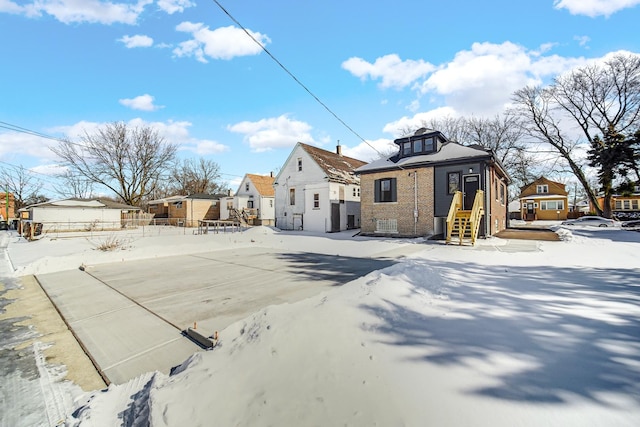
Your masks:
<instances>
[{"instance_id":1,"label":"large bare tree behind the low white building at left","mask_svg":"<svg viewBox=\"0 0 640 427\"><path fill-rule=\"evenodd\" d=\"M177 147L151 127L114 122L95 134L85 132L80 143L63 141L52 151L71 173L113 191L127 204L139 206L167 173Z\"/></svg>"}]
</instances>

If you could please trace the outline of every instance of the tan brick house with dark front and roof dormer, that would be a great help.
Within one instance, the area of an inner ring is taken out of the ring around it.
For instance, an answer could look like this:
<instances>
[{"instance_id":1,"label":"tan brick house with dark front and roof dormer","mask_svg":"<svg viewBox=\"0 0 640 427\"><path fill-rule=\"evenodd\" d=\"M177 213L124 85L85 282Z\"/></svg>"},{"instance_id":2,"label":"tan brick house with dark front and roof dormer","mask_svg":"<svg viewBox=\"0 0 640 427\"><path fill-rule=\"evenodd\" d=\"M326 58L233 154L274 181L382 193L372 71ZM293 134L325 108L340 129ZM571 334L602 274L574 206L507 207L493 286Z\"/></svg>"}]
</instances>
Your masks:
<instances>
[{"instance_id":1,"label":"tan brick house with dark front and roof dormer","mask_svg":"<svg viewBox=\"0 0 640 427\"><path fill-rule=\"evenodd\" d=\"M425 128L394 143L395 155L356 170L362 187L362 234L444 235L450 211L470 212L478 194L479 236L506 228L510 178L490 150L449 141Z\"/></svg>"}]
</instances>

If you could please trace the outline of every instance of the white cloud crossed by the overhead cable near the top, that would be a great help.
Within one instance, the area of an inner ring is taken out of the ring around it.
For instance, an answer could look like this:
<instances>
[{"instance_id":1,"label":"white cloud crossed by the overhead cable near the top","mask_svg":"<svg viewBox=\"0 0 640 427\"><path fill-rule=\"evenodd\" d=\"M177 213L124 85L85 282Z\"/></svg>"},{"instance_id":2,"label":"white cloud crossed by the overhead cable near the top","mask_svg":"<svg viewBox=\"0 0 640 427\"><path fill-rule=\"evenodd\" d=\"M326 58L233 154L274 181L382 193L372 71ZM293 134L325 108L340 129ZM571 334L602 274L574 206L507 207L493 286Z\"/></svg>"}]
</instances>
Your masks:
<instances>
[{"instance_id":1,"label":"white cloud crossed by the overhead cable near the top","mask_svg":"<svg viewBox=\"0 0 640 427\"><path fill-rule=\"evenodd\" d=\"M193 39L182 42L173 50L174 55L194 56L200 62L207 58L232 59L236 56L257 55L262 48L240 28L234 26L210 30L201 23L183 22L177 31L191 33ZM271 42L266 35L247 30L258 42L266 45Z\"/></svg>"}]
</instances>

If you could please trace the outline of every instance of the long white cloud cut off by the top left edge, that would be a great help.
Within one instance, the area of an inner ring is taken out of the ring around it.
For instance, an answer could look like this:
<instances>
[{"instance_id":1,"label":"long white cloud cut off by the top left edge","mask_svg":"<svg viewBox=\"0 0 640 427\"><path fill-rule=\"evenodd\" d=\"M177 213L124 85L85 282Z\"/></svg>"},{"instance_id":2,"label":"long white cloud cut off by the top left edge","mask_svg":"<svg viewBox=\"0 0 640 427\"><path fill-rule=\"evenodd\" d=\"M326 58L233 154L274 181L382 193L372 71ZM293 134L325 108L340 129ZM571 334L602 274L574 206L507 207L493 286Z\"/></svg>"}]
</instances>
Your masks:
<instances>
[{"instance_id":1,"label":"long white cloud cut off by the top left edge","mask_svg":"<svg viewBox=\"0 0 640 427\"><path fill-rule=\"evenodd\" d=\"M22 13L29 17L48 14L64 24L88 22L99 24L135 24L145 6L153 0L138 0L135 4L101 0L37 0L24 6L0 0L0 11Z\"/></svg>"}]
</instances>

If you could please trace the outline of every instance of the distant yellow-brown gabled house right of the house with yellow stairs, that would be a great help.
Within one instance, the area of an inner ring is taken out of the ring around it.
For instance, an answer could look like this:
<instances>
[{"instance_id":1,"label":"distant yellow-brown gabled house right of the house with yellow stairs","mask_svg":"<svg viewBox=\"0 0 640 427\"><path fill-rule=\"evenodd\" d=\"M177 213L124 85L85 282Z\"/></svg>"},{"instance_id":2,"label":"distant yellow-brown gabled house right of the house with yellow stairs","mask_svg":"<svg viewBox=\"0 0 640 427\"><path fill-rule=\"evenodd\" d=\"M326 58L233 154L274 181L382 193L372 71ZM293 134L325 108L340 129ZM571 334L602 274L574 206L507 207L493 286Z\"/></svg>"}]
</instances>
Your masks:
<instances>
[{"instance_id":1,"label":"distant yellow-brown gabled house right of the house with yellow stairs","mask_svg":"<svg viewBox=\"0 0 640 427\"><path fill-rule=\"evenodd\" d=\"M525 221L565 220L569 203L564 184L540 177L520 188L520 209Z\"/></svg>"}]
</instances>

